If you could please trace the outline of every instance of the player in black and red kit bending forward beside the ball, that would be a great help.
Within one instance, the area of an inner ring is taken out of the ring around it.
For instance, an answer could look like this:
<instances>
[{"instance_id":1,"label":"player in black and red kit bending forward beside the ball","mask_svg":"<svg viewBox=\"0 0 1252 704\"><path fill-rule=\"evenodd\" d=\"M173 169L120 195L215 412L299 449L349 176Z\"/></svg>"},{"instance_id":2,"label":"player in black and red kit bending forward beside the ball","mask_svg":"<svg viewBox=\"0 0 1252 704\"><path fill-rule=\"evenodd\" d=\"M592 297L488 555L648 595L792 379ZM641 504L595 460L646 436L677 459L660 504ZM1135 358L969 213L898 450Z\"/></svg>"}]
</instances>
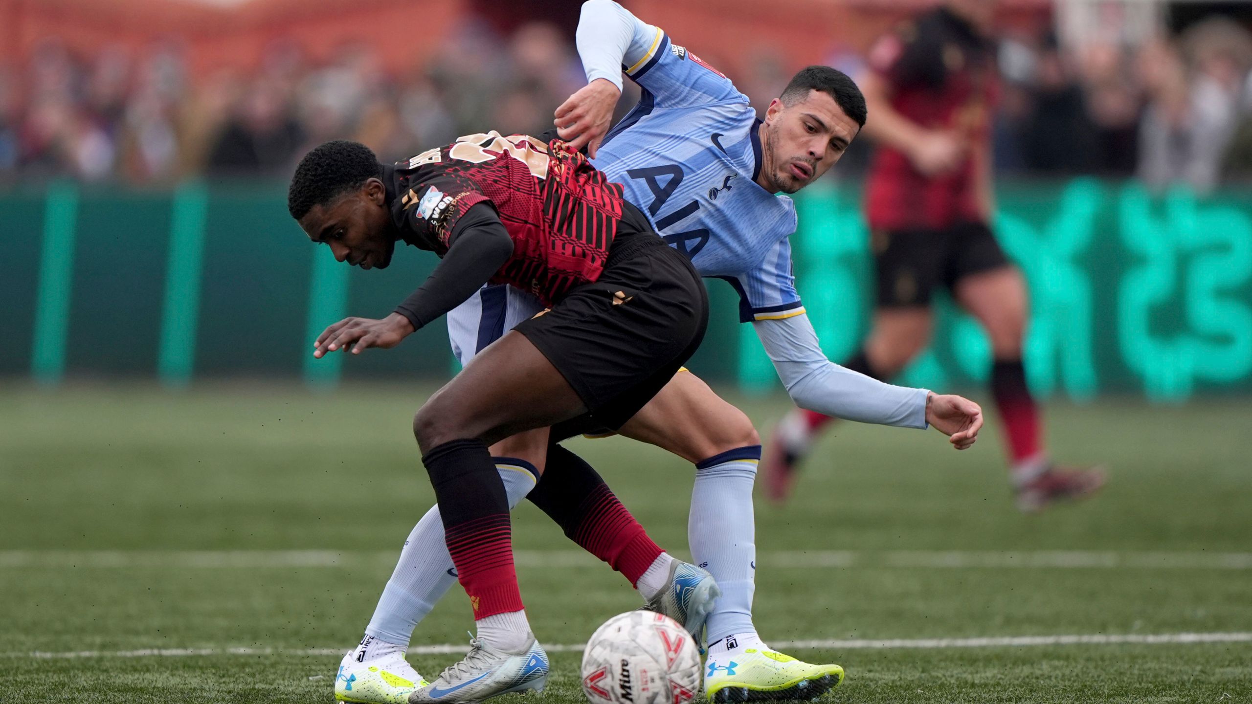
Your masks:
<instances>
[{"instance_id":1,"label":"player in black and red kit bending forward beside the ball","mask_svg":"<svg viewBox=\"0 0 1252 704\"><path fill-rule=\"evenodd\" d=\"M331 142L300 162L288 208L341 262L386 268L397 242L442 258L388 317L328 327L314 357L393 347L488 282L550 306L483 349L413 418L478 638L464 660L411 701L541 689L547 656L522 609L511 496L487 447L547 426L553 440L620 427L700 344L709 316L704 284L622 199L621 187L560 140L476 134L394 167L364 145ZM557 446L550 465L553 458L581 462ZM552 496L532 500L623 574L646 570L660 547L590 467L577 476L578 486L546 487ZM681 593L699 593L704 603L684 608L707 609L716 586L689 567Z\"/></svg>"}]
</instances>

